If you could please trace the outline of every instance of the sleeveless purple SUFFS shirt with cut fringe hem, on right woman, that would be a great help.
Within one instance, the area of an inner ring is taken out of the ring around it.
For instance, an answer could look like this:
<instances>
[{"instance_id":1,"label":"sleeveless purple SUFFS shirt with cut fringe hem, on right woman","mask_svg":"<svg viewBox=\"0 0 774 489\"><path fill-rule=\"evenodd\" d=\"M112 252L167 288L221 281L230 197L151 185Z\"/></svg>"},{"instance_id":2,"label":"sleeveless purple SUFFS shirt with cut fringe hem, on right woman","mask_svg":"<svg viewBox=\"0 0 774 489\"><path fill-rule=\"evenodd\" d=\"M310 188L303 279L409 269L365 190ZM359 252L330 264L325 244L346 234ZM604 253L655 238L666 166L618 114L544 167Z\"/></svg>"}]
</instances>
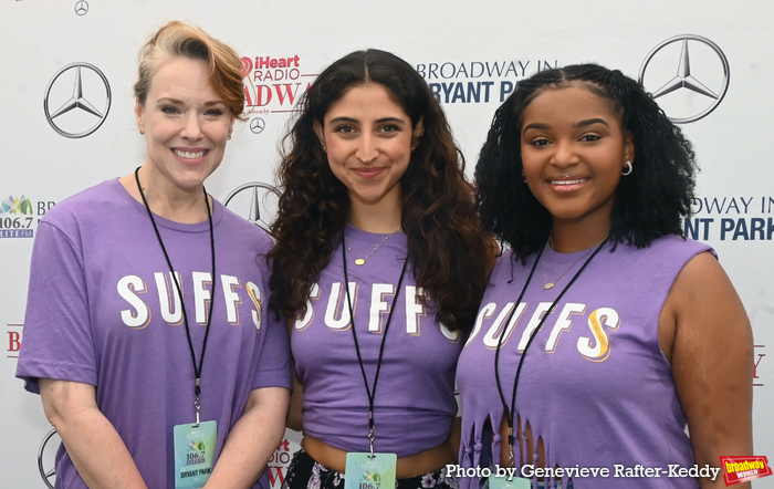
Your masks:
<instances>
[{"instance_id":1,"label":"sleeveless purple SUFFS shirt with cut fringe hem, on right woman","mask_svg":"<svg viewBox=\"0 0 774 489\"><path fill-rule=\"evenodd\" d=\"M610 247L594 258L535 336L519 378L516 416L522 428L530 424L535 440L542 437L546 467L610 470L609 477L573 477L576 489L697 488L694 478L668 478L670 464L693 467L693 452L672 370L659 346L658 320L680 270L709 247L676 236L659 238L645 249L618 245L609 252ZM538 263L508 326L535 256L524 266L513 264L510 251L498 260L457 370L463 467L500 464L501 449L508 449L508 440L496 433L503 419L494 377L500 335L505 334L500 379L510 406L521 352L586 253L546 249L545 272ZM562 278L546 290L543 274L546 282ZM522 444L522 451L517 444L514 447L516 460L526 449L525 437ZM533 447L524 459L537 466L537 450ZM666 471L658 478L625 479L615 477L616 465ZM471 478L460 482L466 489L479 487ZM564 482L566 487L566 478Z\"/></svg>"}]
</instances>

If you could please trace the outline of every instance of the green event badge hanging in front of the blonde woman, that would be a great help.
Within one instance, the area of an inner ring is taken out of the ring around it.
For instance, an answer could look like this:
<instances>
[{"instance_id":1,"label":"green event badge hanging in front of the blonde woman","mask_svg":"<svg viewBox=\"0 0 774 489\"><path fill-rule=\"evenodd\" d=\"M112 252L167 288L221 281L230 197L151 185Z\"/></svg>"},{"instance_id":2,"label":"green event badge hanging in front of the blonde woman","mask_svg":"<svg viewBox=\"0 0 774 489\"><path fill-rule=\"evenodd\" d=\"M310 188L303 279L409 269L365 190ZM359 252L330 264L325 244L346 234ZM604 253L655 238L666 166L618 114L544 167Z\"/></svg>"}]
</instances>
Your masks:
<instances>
[{"instance_id":1,"label":"green event badge hanging in front of the blonde woman","mask_svg":"<svg viewBox=\"0 0 774 489\"><path fill-rule=\"evenodd\" d=\"M175 426L175 489L201 489L212 474L218 422Z\"/></svg>"}]
</instances>

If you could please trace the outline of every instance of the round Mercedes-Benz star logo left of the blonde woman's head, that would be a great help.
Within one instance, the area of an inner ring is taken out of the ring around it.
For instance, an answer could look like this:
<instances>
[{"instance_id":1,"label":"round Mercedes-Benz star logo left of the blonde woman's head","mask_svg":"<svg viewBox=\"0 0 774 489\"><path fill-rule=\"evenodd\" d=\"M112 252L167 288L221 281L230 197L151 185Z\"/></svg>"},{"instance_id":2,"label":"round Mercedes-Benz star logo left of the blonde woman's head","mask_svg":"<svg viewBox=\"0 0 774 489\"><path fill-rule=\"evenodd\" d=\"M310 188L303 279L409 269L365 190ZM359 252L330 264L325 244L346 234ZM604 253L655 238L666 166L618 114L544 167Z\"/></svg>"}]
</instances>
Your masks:
<instances>
[{"instance_id":1,"label":"round Mercedes-Benz star logo left of the blonde woman's head","mask_svg":"<svg viewBox=\"0 0 774 489\"><path fill-rule=\"evenodd\" d=\"M54 131L64 137L79 138L88 136L105 122L111 100L111 84L100 69L88 63L72 63L49 82L43 110Z\"/></svg>"}]
</instances>

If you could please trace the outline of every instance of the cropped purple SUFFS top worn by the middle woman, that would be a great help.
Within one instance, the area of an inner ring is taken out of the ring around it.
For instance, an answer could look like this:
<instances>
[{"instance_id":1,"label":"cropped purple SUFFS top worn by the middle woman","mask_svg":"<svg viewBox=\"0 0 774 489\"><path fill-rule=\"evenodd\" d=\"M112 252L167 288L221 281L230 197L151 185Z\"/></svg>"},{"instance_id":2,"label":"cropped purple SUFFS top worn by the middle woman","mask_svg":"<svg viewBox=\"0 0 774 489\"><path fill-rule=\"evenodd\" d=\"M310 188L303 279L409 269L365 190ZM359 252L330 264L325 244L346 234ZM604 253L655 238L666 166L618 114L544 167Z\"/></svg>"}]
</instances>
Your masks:
<instances>
[{"instance_id":1,"label":"cropped purple SUFFS top worn by the middle woman","mask_svg":"<svg viewBox=\"0 0 774 489\"><path fill-rule=\"evenodd\" d=\"M346 229L347 273L355 326L368 385L373 388L379 346L390 313L407 238ZM374 449L414 455L444 441L457 415L454 366L462 348L458 332L425 306L408 264L393 312L376 387ZM342 248L336 247L312 289L306 315L291 335L295 368L304 387L304 433L346 451L368 450L368 396L351 331Z\"/></svg>"}]
</instances>

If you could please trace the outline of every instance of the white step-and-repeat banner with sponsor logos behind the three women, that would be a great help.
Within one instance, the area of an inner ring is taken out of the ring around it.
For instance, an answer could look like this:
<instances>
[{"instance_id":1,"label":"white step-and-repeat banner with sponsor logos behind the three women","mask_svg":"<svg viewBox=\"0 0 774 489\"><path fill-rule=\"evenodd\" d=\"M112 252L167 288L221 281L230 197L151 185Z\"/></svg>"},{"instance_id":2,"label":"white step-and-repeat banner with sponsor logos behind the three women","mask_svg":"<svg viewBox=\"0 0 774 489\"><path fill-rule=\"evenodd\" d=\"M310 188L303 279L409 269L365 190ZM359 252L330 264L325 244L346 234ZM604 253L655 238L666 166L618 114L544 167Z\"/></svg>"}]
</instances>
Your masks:
<instances>
[{"instance_id":1,"label":"white step-and-repeat banner with sponsor logos behind the three women","mask_svg":"<svg viewBox=\"0 0 774 489\"><path fill-rule=\"evenodd\" d=\"M754 451L774 455L772 17L763 0L2 1L0 486L45 487L41 471L52 469L59 444L44 443L51 427L40 398L14 378L38 222L67 196L143 162L137 53L175 19L242 56L248 121L237 123L207 188L264 227L290 114L317 73L351 51L393 51L416 67L447 111L471 176L495 108L523 77L589 61L639 77L695 146L702 173L686 233L718 250L742 296L755 337ZM274 452L274 488L300 438L287 431ZM774 478L754 487L774 487Z\"/></svg>"}]
</instances>

